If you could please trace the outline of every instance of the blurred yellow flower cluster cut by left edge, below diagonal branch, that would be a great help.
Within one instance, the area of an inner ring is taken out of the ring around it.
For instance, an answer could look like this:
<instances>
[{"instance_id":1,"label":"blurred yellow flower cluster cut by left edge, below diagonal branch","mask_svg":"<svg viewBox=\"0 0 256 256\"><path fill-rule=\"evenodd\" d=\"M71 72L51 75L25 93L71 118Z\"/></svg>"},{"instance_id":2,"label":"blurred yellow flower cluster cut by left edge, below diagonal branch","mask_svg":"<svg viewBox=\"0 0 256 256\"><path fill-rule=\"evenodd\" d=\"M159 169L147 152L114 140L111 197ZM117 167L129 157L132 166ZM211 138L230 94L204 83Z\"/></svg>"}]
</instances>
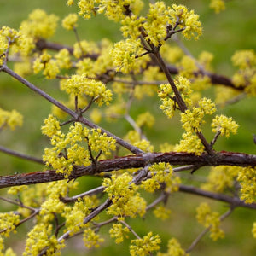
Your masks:
<instances>
[{"instance_id":1,"label":"blurred yellow flower cluster cut by left edge, below diagonal branch","mask_svg":"<svg viewBox=\"0 0 256 256\"><path fill-rule=\"evenodd\" d=\"M14 131L17 126L23 124L23 116L15 109L11 112L0 108L0 128L9 126Z\"/></svg>"}]
</instances>

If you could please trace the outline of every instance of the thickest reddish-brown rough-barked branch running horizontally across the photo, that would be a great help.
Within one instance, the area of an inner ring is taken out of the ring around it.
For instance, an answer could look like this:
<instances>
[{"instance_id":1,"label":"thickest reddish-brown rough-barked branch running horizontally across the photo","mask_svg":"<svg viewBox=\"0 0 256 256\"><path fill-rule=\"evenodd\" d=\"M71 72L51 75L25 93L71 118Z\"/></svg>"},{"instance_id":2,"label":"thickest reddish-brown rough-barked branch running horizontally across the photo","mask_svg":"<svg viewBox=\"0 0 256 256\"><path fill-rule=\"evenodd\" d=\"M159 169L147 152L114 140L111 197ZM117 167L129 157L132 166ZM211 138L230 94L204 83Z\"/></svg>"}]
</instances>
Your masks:
<instances>
[{"instance_id":1,"label":"thickest reddish-brown rough-barked branch running horizontally across the photo","mask_svg":"<svg viewBox=\"0 0 256 256\"><path fill-rule=\"evenodd\" d=\"M149 164L166 162L173 166L256 166L255 154L242 154L233 152L216 152L213 155L203 153L201 155L185 152L147 153L118 157L112 160L99 160L95 166L74 166L69 179L85 175L95 175L101 172L112 172L120 169L142 168ZM54 170L45 172L21 173L10 176L0 176L0 189L12 186L49 183L63 180L65 177Z\"/></svg>"}]
</instances>

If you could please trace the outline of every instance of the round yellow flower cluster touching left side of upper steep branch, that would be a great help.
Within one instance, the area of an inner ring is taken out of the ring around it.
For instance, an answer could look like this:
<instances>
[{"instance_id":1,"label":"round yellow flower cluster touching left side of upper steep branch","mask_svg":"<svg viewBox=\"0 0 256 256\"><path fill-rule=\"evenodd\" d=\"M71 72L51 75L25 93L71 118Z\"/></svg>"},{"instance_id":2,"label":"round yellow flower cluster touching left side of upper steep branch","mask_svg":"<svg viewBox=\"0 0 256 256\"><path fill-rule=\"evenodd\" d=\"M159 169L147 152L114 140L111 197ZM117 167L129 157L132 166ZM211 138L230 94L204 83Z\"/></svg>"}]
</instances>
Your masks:
<instances>
[{"instance_id":1,"label":"round yellow flower cluster touching left side of upper steep branch","mask_svg":"<svg viewBox=\"0 0 256 256\"><path fill-rule=\"evenodd\" d=\"M139 73L141 67L146 67L147 58L137 58L142 53L141 43L133 39L119 41L110 51L116 71L122 73Z\"/></svg>"}]
</instances>

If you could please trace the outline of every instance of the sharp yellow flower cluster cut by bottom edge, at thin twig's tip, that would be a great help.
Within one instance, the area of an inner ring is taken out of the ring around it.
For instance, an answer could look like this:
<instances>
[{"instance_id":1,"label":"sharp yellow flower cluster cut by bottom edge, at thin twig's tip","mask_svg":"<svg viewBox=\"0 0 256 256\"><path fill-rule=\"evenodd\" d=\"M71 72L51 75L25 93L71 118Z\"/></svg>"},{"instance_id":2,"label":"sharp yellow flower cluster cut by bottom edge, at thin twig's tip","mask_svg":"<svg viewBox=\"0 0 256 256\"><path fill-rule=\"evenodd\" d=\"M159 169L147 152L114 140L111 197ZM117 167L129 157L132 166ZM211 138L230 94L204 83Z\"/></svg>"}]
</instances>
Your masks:
<instances>
[{"instance_id":1,"label":"sharp yellow flower cluster cut by bottom edge, at thin twig's tip","mask_svg":"<svg viewBox=\"0 0 256 256\"><path fill-rule=\"evenodd\" d=\"M160 236L153 236L152 232L149 232L141 239L131 240L130 254L131 256L145 256L150 255L153 251L160 249Z\"/></svg>"}]
</instances>

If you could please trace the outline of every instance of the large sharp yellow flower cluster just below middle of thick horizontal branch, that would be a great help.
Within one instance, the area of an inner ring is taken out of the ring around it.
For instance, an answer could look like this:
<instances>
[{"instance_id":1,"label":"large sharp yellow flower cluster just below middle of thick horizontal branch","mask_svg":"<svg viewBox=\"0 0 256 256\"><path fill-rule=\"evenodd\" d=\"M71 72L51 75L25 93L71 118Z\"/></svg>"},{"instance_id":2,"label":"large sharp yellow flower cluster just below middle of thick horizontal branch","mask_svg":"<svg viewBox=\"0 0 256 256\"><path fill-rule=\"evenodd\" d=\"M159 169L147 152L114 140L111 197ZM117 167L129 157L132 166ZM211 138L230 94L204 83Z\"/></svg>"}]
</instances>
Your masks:
<instances>
[{"instance_id":1,"label":"large sharp yellow flower cluster just below middle of thick horizontal branch","mask_svg":"<svg viewBox=\"0 0 256 256\"><path fill-rule=\"evenodd\" d=\"M135 218L137 214L143 216L146 211L146 201L137 193L138 187L131 183L132 176L124 173L117 177L112 175L111 179L104 178L104 192L108 193L113 204L108 207L107 213L114 216L130 216Z\"/></svg>"}]
</instances>

